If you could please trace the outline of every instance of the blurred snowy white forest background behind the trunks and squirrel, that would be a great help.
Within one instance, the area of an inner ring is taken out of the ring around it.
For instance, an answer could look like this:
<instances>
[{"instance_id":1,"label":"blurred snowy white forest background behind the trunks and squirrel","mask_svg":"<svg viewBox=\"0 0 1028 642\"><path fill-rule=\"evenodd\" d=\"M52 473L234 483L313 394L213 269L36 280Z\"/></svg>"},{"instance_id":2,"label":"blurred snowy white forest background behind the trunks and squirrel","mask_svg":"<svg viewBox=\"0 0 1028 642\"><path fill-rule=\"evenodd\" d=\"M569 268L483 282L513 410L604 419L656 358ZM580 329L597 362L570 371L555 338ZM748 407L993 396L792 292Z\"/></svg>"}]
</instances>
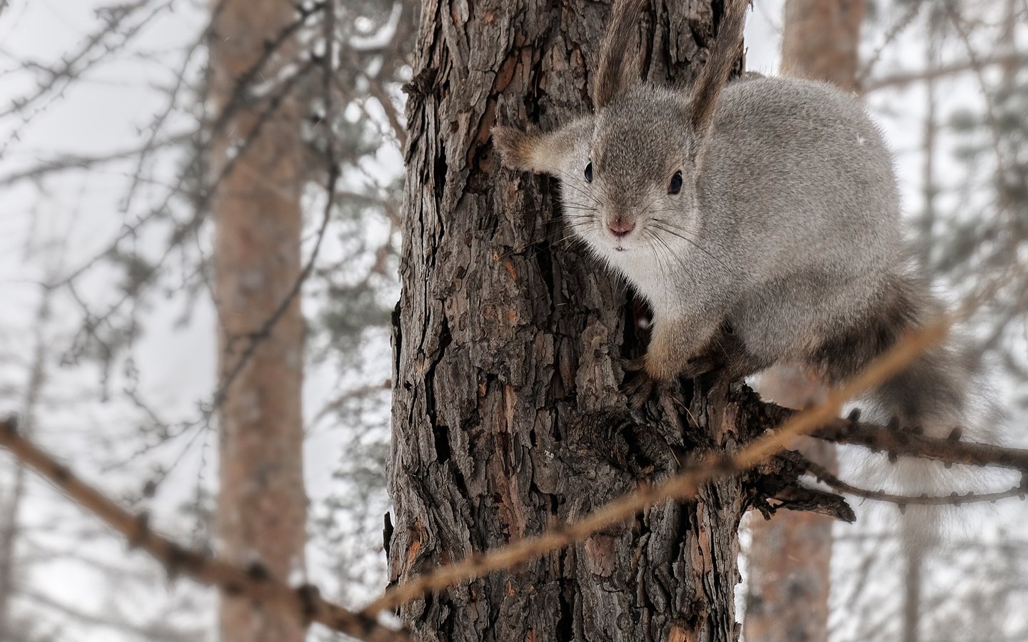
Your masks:
<instances>
[{"instance_id":1,"label":"blurred snowy white forest background behind the trunks and squirrel","mask_svg":"<svg viewBox=\"0 0 1028 642\"><path fill-rule=\"evenodd\" d=\"M210 181L246 138L219 116L242 85L218 86L212 6L0 6L0 415L19 414L34 441L162 532L213 550L217 414L232 365L219 365L228 348L212 298ZM291 171L303 213L296 300L306 343L295 405L309 503L305 564L292 579L358 607L386 580L401 86L411 80L417 7L311 2L290 14L282 42L271 31L256 48L276 60L246 90L289 96L303 114ZM757 3L748 69L776 71L782 16L781 2ZM1023 253L1026 16L1019 0L867 3L858 86L896 154L922 261L953 302ZM222 160L212 161L214 149ZM1007 442L1022 446L1023 290L1002 292L970 323L996 373L990 394L1012 415ZM242 341L236 357L247 353ZM169 582L146 555L126 554L90 516L0 458L0 638L214 639L211 591ZM861 511L857 524L835 526L830 639L904 635L894 514ZM1028 639L1028 618L1013 607L1028 592L1028 539L1017 528L1025 518L1014 502L958 520L926 561L923 639Z\"/></svg>"}]
</instances>

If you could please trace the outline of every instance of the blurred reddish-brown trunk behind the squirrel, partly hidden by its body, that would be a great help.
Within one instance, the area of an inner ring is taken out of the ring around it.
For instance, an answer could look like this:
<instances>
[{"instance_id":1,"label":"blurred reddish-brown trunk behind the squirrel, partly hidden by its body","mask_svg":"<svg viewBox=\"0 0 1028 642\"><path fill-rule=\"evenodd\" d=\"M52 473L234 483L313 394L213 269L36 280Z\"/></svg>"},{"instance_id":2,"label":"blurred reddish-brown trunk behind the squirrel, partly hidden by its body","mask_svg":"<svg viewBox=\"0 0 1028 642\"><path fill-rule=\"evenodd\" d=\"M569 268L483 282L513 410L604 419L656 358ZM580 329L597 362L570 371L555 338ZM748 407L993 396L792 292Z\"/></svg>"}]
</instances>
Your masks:
<instances>
[{"instance_id":1,"label":"blurred reddish-brown trunk behind the squirrel, partly hidden by its body","mask_svg":"<svg viewBox=\"0 0 1028 642\"><path fill-rule=\"evenodd\" d=\"M854 90L864 10L864 0L787 0L782 73ZM819 401L823 390L795 368L777 366L761 376L761 394L803 408ZM829 469L838 467L831 444L802 439L794 446ZM813 513L782 512L770 521L751 517L747 642L828 640L832 523Z\"/></svg>"}]
</instances>

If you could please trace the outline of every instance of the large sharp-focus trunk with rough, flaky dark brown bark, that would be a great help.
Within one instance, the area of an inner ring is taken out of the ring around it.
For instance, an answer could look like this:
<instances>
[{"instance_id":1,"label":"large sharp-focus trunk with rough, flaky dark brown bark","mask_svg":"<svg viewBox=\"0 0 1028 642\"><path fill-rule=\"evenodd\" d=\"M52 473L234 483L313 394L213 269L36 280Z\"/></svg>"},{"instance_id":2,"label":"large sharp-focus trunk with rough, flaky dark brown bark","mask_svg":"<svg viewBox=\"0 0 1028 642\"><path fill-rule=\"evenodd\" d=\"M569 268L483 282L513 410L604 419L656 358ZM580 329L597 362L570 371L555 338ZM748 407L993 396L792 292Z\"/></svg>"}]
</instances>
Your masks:
<instances>
[{"instance_id":1,"label":"large sharp-focus trunk with rough, flaky dark brown bark","mask_svg":"<svg viewBox=\"0 0 1028 642\"><path fill-rule=\"evenodd\" d=\"M650 8L650 78L695 75L711 4ZM608 11L424 6L394 318L393 582L579 518L760 425L736 404L743 391L724 387L685 386L681 414L669 403L648 408L648 421L626 411L618 357L641 350L639 306L562 240L556 184L500 169L489 143L497 122L548 128L589 109ZM718 482L400 615L425 640L736 640L744 483Z\"/></svg>"}]
</instances>

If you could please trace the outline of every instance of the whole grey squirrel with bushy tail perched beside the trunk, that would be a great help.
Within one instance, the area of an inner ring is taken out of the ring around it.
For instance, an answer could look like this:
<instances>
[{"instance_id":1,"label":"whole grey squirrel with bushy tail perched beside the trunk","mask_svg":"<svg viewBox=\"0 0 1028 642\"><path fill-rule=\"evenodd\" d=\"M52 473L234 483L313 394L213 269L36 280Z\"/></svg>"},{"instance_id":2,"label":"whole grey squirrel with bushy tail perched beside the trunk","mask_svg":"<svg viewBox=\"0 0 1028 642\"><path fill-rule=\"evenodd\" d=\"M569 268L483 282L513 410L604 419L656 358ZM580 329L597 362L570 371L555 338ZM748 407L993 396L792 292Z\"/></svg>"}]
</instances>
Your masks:
<instances>
[{"instance_id":1,"label":"whole grey squirrel with bushy tail perched beside the trunk","mask_svg":"<svg viewBox=\"0 0 1028 642\"><path fill-rule=\"evenodd\" d=\"M648 0L618 0L595 113L548 134L494 126L511 168L561 181L563 217L654 311L648 381L801 365L828 384L858 373L934 315L904 242L892 158L853 97L822 82L728 82L747 0L730 0L686 89L644 83L626 61ZM963 421L967 367L953 347L918 358L869 402L946 437Z\"/></svg>"}]
</instances>

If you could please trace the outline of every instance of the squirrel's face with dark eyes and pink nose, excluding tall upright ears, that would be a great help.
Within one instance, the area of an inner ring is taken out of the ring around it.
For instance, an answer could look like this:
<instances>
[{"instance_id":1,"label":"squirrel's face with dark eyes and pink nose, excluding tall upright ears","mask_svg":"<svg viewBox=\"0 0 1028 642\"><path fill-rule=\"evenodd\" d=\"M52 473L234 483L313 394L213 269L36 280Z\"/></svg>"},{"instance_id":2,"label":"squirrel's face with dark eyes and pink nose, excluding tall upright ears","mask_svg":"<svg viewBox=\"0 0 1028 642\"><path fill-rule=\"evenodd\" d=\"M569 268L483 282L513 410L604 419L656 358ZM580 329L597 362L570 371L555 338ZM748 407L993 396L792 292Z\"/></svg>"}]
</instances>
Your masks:
<instances>
[{"instance_id":1,"label":"squirrel's face with dark eyes and pink nose, excluding tall upright ears","mask_svg":"<svg viewBox=\"0 0 1028 642\"><path fill-rule=\"evenodd\" d=\"M590 246L632 251L692 236L702 139L682 126L688 109L682 95L637 83L554 131L498 126L492 137L508 167L560 179L564 220Z\"/></svg>"}]
</instances>

